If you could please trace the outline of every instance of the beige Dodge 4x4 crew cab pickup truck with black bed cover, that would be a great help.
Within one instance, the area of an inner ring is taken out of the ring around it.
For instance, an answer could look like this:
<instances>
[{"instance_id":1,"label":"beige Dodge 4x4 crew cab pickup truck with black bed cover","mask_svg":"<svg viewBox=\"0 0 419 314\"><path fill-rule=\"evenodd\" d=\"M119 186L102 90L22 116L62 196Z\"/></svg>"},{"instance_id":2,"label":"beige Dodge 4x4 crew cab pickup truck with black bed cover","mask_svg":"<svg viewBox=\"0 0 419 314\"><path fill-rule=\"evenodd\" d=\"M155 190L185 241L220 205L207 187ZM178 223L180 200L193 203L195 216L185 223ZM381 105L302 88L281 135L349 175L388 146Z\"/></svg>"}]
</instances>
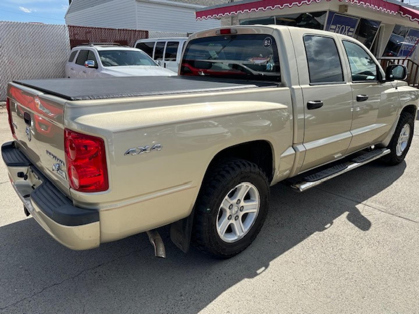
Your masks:
<instances>
[{"instance_id":1,"label":"beige Dodge 4x4 crew cab pickup truck with black bed cover","mask_svg":"<svg viewBox=\"0 0 419 314\"><path fill-rule=\"evenodd\" d=\"M170 224L181 250L228 258L259 233L270 185L304 191L409 150L419 91L347 36L210 29L178 74L11 82L2 156L26 214L75 250L147 232L164 256Z\"/></svg>"}]
</instances>

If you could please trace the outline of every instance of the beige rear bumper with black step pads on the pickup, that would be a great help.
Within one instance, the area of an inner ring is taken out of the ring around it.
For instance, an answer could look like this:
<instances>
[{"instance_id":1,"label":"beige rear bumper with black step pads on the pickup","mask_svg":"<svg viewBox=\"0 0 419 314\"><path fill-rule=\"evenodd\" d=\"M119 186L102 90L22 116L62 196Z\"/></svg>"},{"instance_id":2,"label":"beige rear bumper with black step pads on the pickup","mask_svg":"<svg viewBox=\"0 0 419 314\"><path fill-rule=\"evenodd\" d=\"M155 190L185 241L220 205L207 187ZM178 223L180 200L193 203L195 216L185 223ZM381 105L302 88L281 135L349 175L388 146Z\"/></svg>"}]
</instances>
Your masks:
<instances>
[{"instance_id":1,"label":"beige rear bumper with black step pads on the pickup","mask_svg":"<svg viewBox=\"0 0 419 314\"><path fill-rule=\"evenodd\" d=\"M73 206L72 201L15 146L15 142L3 144L1 152L13 188L45 231L73 250L99 246L98 211Z\"/></svg>"}]
</instances>

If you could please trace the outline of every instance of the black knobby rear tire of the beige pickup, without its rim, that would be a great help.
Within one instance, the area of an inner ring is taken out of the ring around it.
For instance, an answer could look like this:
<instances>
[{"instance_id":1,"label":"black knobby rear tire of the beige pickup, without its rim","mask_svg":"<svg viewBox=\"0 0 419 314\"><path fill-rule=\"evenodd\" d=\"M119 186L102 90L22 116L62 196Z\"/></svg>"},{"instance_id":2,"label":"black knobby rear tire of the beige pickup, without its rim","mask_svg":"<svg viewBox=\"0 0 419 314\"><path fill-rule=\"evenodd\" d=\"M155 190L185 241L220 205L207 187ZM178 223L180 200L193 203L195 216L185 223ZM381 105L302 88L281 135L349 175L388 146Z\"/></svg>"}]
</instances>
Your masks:
<instances>
[{"instance_id":1,"label":"black knobby rear tire of the beige pickup, without its rim","mask_svg":"<svg viewBox=\"0 0 419 314\"><path fill-rule=\"evenodd\" d=\"M249 182L259 192L259 213L247 234L237 242L224 242L217 232L218 209L236 185ZM248 247L264 224L268 211L269 181L256 164L241 159L226 160L212 167L204 179L195 206L193 244L210 257L227 259Z\"/></svg>"}]
</instances>

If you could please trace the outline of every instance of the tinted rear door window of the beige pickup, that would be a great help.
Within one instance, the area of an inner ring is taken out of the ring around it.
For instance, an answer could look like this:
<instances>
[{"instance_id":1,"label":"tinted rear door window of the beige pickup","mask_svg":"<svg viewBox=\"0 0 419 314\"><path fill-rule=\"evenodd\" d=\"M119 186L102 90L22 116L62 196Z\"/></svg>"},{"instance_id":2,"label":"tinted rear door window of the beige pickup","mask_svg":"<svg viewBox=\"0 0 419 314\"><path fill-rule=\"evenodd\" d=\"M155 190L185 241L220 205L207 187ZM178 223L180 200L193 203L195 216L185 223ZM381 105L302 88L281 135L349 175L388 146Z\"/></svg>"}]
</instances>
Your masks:
<instances>
[{"instance_id":1,"label":"tinted rear door window of the beige pickup","mask_svg":"<svg viewBox=\"0 0 419 314\"><path fill-rule=\"evenodd\" d=\"M343 82L342 66L333 38L304 36L310 83Z\"/></svg>"}]
</instances>

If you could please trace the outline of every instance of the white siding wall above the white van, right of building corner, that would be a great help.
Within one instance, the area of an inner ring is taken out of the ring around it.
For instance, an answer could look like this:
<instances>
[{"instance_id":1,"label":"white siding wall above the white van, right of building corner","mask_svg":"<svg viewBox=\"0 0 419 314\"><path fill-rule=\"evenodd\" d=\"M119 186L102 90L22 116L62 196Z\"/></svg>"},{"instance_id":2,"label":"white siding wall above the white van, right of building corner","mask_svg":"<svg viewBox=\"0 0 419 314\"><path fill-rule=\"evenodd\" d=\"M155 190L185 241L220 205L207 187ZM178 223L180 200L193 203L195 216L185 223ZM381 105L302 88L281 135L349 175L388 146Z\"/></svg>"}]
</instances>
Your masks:
<instances>
[{"instance_id":1,"label":"white siding wall above the white van, right of building corner","mask_svg":"<svg viewBox=\"0 0 419 314\"><path fill-rule=\"evenodd\" d=\"M178 6L170 1L137 1L137 29L193 33L207 28L220 27L215 19L196 21L195 8Z\"/></svg>"}]
</instances>

